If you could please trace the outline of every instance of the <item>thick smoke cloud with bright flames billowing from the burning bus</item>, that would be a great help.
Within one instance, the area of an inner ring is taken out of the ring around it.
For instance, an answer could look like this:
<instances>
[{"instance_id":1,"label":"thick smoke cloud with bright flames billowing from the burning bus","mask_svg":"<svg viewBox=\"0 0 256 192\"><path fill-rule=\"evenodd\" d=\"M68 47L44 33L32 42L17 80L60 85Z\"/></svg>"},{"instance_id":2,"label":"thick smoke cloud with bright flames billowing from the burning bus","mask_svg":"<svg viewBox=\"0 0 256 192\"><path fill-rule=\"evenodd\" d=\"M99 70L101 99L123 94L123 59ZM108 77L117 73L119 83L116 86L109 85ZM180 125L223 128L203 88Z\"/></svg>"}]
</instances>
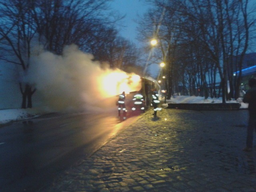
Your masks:
<instances>
[{"instance_id":1,"label":"thick smoke cloud with bright flames billowing from the burning bus","mask_svg":"<svg viewBox=\"0 0 256 192\"><path fill-rule=\"evenodd\" d=\"M66 46L62 56L36 48L26 81L35 84L44 104L54 110L108 110L115 107L114 96L122 93L119 86L127 86L130 74L102 68L92 58L76 45Z\"/></svg>"}]
</instances>

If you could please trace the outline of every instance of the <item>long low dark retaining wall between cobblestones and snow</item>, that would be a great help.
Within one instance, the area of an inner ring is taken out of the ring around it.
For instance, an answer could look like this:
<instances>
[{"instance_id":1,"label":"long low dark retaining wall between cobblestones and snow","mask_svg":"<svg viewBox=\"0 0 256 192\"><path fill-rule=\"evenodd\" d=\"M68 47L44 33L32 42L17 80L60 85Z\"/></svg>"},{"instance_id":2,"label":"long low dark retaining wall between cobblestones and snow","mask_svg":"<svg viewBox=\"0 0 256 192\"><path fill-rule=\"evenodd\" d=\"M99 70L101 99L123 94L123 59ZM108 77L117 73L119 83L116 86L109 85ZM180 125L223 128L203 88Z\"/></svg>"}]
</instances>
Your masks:
<instances>
[{"instance_id":1,"label":"long low dark retaining wall between cobblestones and snow","mask_svg":"<svg viewBox=\"0 0 256 192\"><path fill-rule=\"evenodd\" d=\"M240 103L168 103L168 108L187 110L238 110Z\"/></svg>"}]
</instances>

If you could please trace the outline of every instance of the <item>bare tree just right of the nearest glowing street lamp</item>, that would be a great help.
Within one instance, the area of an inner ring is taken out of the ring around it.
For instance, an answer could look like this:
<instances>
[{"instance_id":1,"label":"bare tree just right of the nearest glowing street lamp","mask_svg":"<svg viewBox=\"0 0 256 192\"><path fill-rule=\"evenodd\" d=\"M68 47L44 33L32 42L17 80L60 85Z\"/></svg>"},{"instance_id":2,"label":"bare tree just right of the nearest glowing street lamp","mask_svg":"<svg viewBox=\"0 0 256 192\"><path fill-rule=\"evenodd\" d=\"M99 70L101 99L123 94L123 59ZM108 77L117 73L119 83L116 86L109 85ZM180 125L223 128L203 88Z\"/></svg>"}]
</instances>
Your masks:
<instances>
[{"instance_id":1,"label":"bare tree just right of the nearest glowing street lamp","mask_svg":"<svg viewBox=\"0 0 256 192\"><path fill-rule=\"evenodd\" d=\"M174 14L165 14L165 5L162 2L155 2L157 6L155 9L150 10L145 14L143 20L139 22L140 26L138 39L146 45L145 51L151 52L148 64L165 63L162 69L162 74L166 76L165 90L167 98L172 95L174 70L175 70L175 50L176 50L176 37L174 33L177 32L174 28L175 18ZM176 33L177 35L178 33ZM155 38L158 43L152 47L147 46L150 40ZM147 67L147 66L146 66ZM159 76L159 75L158 75Z\"/></svg>"}]
</instances>

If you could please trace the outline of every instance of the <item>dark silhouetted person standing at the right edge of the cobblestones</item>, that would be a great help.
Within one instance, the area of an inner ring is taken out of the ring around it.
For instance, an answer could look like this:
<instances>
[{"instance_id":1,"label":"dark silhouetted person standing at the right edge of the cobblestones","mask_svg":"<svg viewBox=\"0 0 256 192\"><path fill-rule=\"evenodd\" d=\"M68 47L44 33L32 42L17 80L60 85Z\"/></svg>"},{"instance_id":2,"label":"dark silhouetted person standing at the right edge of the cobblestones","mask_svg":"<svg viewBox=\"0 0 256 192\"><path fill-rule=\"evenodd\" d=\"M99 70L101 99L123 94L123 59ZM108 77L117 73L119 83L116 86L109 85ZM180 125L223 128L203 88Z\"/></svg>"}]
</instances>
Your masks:
<instances>
[{"instance_id":1,"label":"dark silhouetted person standing at the right edge of the cobblestones","mask_svg":"<svg viewBox=\"0 0 256 192\"><path fill-rule=\"evenodd\" d=\"M252 151L253 131L256 131L256 79L250 78L248 82L250 89L244 95L243 102L248 103L249 122L247 127L246 152Z\"/></svg>"}]
</instances>

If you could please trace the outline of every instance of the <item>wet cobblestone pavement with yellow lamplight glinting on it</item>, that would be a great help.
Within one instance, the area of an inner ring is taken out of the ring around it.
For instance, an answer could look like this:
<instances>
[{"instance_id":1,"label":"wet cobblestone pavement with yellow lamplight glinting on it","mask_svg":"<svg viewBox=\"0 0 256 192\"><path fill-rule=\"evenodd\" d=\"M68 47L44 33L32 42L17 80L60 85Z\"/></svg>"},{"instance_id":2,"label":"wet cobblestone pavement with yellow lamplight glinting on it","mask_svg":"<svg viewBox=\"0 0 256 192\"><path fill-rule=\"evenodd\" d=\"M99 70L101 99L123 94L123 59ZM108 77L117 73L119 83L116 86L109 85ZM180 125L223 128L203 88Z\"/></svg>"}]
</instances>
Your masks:
<instances>
[{"instance_id":1,"label":"wet cobblestone pavement with yellow lamplight glinting on it","mask_svg":"<svg viewBox=\"0 0 256 192\"><path fill-rule=\"evenodd\" d=\"M246 110L152 111L44 192L255 192Z\"/></svg>"}]
</instances>

